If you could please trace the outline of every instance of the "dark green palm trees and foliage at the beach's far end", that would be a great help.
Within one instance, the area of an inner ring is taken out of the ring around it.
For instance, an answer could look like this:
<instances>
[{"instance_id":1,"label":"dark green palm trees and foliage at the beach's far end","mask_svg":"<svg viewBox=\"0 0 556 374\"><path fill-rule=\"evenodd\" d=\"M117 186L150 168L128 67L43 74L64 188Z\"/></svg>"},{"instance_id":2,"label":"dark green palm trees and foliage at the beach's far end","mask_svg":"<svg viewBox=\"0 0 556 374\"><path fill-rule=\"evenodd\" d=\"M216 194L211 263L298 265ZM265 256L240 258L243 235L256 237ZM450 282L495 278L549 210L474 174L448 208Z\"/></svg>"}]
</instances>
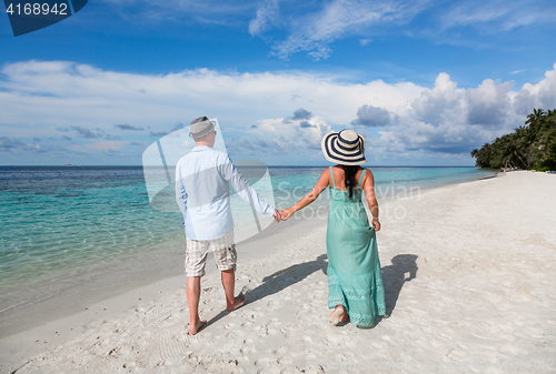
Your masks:
<instances>
[{"instance_id":1,"label":"dark green palm trees and foliage at the beach's far end","mask_svg":"<svg viewBox=\"0 0 556 374\"><path fill-rule=\"evenodd\" d=\"M475 165L500 169L556 170L556 110L533 109L526 127L471 151Z\"/></svg>"}]
</instances>

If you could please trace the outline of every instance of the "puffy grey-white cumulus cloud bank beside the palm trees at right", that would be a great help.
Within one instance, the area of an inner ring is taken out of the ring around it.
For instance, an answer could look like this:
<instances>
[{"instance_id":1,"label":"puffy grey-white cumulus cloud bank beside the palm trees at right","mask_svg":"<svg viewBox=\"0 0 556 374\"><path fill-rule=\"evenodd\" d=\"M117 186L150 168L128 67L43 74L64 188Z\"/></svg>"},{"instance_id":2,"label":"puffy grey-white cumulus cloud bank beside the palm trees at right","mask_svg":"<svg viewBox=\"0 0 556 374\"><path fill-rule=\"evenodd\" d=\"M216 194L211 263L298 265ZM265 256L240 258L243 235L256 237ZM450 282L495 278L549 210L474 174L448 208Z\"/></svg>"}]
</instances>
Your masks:
<instances>
[{"instance_id":1,"label":"puffy grey-white cumulus cloud bank beside the palm trees at right","mask_svg":"<svg viewBox=\"0 0 556 374\"><path fill-rule=\"evenodd\" d=\"M378 132L373 152L407 159L427 153L467 156L473 148L523 125L533 108L556 108L556 64L537 84L527 83L519 92L510 89L512 83L490 79L476 89L461 89L440 73L433 89L424 90L407 110L398 110L395 123ZM379 111L373 113L380 118Z\"/></svg>"}]
</instances>

